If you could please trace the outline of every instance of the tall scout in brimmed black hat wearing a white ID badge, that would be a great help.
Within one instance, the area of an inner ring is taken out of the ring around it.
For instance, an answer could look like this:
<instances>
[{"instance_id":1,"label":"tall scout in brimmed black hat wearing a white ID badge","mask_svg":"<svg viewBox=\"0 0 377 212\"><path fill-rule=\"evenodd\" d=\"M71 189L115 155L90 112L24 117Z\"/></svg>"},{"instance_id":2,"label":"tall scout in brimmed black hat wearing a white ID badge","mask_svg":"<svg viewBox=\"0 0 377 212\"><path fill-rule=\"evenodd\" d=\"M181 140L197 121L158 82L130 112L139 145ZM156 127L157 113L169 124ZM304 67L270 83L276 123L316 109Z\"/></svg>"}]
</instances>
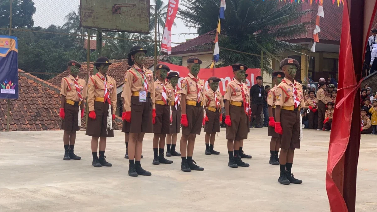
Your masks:
<instances>
[{"instance_id":1,"label":"tall scout in brimmed black hat wearing a white ID badge","mask_svg":"<svg viewBox=\"0 0 377 212\"><path fill-rule=\"evenodd\" d=\"M132 69L126 72L122 92L122 119L128 122L128 129L125 131L130 133L128 174L131 177L152 175L144 170L140 163L144 135L153 132L156 117L153 72L143 65L146 53L147 50L141 46L133 46L127 54L128 65Z\"/></svg>"}]
</instances>

